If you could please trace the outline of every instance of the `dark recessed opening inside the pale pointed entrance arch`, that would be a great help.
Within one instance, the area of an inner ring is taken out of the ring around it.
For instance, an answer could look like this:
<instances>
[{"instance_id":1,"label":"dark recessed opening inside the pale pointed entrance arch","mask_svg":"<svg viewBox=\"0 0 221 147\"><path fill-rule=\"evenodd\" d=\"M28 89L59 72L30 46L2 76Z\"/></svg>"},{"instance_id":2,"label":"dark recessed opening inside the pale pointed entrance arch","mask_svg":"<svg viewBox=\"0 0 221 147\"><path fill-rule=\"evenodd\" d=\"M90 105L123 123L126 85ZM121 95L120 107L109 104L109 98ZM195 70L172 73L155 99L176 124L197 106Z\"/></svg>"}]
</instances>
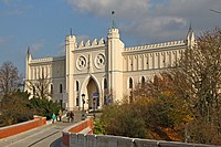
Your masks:
<instances>
[{"instance_id":1,"label":"dark recessed opening inside the pale pointed entrance arch","mask_svg":"<svg viewBox=\"0 0 221 147\"><path fill-rule=\"evenodd\" d=\"M90 82L87 84L87 94L88 94L88 108L93 109L94 107L99 106L99 97L96 96L98 95L98 88L93 78L90 78Z\"/></svg>"}]
</instances>

